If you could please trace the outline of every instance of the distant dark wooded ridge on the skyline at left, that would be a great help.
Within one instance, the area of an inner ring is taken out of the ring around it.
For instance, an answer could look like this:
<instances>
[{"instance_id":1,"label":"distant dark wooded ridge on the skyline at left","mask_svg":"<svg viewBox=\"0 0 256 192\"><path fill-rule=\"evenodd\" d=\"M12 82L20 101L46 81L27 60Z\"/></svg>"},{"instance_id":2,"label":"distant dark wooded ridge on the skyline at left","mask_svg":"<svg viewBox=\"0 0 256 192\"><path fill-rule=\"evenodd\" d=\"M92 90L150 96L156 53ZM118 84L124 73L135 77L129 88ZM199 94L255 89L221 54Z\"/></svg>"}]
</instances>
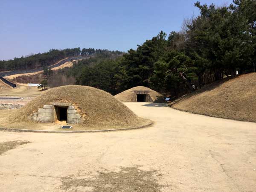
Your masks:
<instances>
[{"instance_id":1,"label":"distant dark wooded ridge on the skyline at left","mask_svg":"<svg viewBox=\"0 0 256 192\"><path fill-rule=\"evenodd\" d=\"M14 58L8 61L0 61L0 71L10 71L10 70L31 70L41 67L46 67L52 64L55 64L61 59L67 57L76 57L76 56L86 56L86 55L95 55L95 54L116 54L121 55L122 52L119 51L109 51L107 49L93 49L93 48L71 48L71 49L50 49L45 53L38 53L35 55L29 55L21 58Z\"/></svg>"}]
</instances>

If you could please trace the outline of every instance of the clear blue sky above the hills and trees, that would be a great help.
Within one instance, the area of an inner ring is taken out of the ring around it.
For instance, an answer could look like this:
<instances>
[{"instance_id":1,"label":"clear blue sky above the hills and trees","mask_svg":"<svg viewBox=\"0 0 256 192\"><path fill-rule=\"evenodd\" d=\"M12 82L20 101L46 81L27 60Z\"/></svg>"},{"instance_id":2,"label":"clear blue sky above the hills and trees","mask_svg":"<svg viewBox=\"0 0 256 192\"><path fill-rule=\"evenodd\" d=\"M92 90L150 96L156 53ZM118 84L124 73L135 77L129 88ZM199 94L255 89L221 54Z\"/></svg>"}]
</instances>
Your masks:
<instances>
[{"instance_id":1,"label":"clear blue sky above the hills and trees","mask_svg":"<svg viewBox=\"0 0 256 192\"><path fill-rule=\"evenodd\" d=\"M196 0L0 0L0 60L49 49L136 49L179 31ZM229 5L232 0L201 0Z\"/></svg>"}]
</instances>

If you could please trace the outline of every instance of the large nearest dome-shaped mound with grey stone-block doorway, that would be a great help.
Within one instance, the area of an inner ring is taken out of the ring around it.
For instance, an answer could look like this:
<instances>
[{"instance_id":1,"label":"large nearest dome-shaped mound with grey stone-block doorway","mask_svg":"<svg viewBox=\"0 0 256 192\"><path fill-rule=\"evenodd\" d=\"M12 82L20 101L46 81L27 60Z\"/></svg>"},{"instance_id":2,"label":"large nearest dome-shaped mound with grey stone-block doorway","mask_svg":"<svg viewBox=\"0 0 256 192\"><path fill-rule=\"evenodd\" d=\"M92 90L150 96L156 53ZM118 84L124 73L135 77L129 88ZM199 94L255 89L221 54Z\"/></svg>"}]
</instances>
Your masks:
<instances>
[{"instance_id":1,"label":"large nearest dome-shaped mound with grey stone-block doorway","mask_svg":"<svg viewBox=\"0 0 256 192\"><path fill-rule=\"evenodd\" d=\"M64 106L66 104L68 107ZM47 90L18 110L10 119L16 122L28 122L33 120L35 115L39 118L38 113L47 116L53 113L51 111L58 111L56 107L61 107L59 110L66 107L66 118L69 118L68 113L72 118L81 116L82 121L78 124L85 126L126 126L136 125L142 121L142 118L136 116L111 94L93 87L79 85L67 85Z\"/></svg>"}]
</instances>

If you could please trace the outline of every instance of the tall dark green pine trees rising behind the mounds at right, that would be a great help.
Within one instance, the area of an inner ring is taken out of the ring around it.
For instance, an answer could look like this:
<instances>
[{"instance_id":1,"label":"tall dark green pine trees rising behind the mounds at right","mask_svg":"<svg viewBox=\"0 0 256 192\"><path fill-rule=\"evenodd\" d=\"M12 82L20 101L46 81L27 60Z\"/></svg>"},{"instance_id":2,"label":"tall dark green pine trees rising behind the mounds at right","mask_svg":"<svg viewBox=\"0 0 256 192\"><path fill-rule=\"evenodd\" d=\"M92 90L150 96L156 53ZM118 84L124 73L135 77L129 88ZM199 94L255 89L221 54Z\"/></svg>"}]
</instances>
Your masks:
<instances>
[{"instance_id":1,"label":"tall dark green pine trees rising behind the mounds at right","mask_svg":"<svg viewBox=\"0 0 256 192\"><path fill-rule=\"evenodd\" d=\"M255 72L256 1L195 6L200 15L185 20L180 32L161 31L116 59L80 61L71 69L78 72L76 84L112 94L142 85L179 96L237 72Z\"/></svg>"}]
</instances>

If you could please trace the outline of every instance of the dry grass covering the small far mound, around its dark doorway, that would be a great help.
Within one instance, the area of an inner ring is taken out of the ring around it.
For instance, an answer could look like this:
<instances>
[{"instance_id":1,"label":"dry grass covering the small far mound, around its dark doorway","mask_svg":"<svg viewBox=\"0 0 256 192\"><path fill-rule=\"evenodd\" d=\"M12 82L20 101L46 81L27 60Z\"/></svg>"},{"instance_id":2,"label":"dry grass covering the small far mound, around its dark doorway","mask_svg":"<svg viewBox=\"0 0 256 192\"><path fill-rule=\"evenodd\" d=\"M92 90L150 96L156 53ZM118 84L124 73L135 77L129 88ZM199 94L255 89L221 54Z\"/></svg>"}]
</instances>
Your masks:
<instances>
[{"instance_id":1,"label":"dry grass covering the small far mound, around its dark doorway","mask_svg":"<svg viewBox=\"0 0 256 192\"><path fill-rule=\"evenodd\" d=\"M143 86L133 87L131 89L125 90L122 93L115 95L116 99L119 99L122 102L137 102L137 93L146 92L150 95L153 102L161 103L164 102L164 96L160 93Z\"/></svg>"}]
</instances>

